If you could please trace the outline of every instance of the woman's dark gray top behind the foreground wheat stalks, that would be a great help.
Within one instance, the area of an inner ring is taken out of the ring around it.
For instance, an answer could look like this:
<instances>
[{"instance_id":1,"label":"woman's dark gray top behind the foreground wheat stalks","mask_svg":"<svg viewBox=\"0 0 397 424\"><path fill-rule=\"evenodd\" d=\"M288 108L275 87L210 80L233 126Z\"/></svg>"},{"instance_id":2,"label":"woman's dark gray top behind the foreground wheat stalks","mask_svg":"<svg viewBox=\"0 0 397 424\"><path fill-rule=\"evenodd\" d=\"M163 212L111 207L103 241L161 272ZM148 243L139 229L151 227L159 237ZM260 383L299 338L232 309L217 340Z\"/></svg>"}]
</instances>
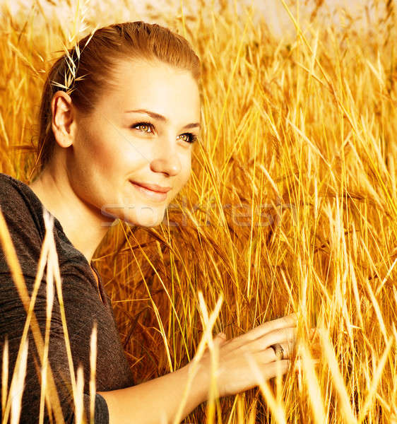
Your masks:
<instances>
[{"instance_id":1,"label":"woman's dark gray top behind the foreground wheat stalks","mask_svg":"<svg viewBox=\"0 0 397 424\"><path fill-rule=\"evenodd\" d=\"M43 209L45 209L45 206L27 184L0 172L0 210L6 219L8 231L11 234L30 295L35 282L42 242L45 237ZM129 387L134 385L134 379L120 342L112 305L109 296L105 292L101 278L97 274L100 290L100 293L98 293L97 282L90 264L85 256L73 247L70 240L66 237L59 220L55 217L54 240L59 259L73 367L75 373L77 373L78 365L83 365L84 407L89 422L90 336L94 322L97 322L97 391ZM93 266L92 263L91 266ZM45 272L34 309L43 340L46 322L46 290ZM11 384L25 317L25 309L14 286L0 243L0 359L3 356L4 340L8 338L8 389ZM55 290L50 328L49 364L57 385L64 420L66 423L74 423L71 379L57 290ZM40 360L31 330L29 330L28 341L28 365L20 415L20 423L27 424L38 422L40 405L40 380L37 377L36 370ZM2 389L0 378L0 392ZM45 406L45 423L49 422L47 406ZM100 394L96 394L95 424L108 423L109 412L106 401Z\"/></svg>"}]
</instances>

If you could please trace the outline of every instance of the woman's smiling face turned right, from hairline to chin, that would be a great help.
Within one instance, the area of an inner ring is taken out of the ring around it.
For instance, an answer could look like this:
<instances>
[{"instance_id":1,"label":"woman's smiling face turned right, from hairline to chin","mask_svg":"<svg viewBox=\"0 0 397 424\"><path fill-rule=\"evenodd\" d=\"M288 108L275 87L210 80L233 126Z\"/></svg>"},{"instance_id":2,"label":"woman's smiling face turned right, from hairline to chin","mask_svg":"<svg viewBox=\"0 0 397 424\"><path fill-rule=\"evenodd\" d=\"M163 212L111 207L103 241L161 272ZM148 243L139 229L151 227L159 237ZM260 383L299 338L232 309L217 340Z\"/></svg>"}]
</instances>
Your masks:
<instances>
[{"instance_id":1,"label":"woman's smiling face turned right, from hairline to chin","mask_svg":"<svg viewBox=\"0 0 397 424\"><path fill-rule=\"evenodd\" d=\"M189 71L160 61L122 61L114 75L116 88L106 90L94 112L76 114L66 172L103 225L115 218L158 225L189 179L198 86Z\"/></svg>"}]
</instances>

